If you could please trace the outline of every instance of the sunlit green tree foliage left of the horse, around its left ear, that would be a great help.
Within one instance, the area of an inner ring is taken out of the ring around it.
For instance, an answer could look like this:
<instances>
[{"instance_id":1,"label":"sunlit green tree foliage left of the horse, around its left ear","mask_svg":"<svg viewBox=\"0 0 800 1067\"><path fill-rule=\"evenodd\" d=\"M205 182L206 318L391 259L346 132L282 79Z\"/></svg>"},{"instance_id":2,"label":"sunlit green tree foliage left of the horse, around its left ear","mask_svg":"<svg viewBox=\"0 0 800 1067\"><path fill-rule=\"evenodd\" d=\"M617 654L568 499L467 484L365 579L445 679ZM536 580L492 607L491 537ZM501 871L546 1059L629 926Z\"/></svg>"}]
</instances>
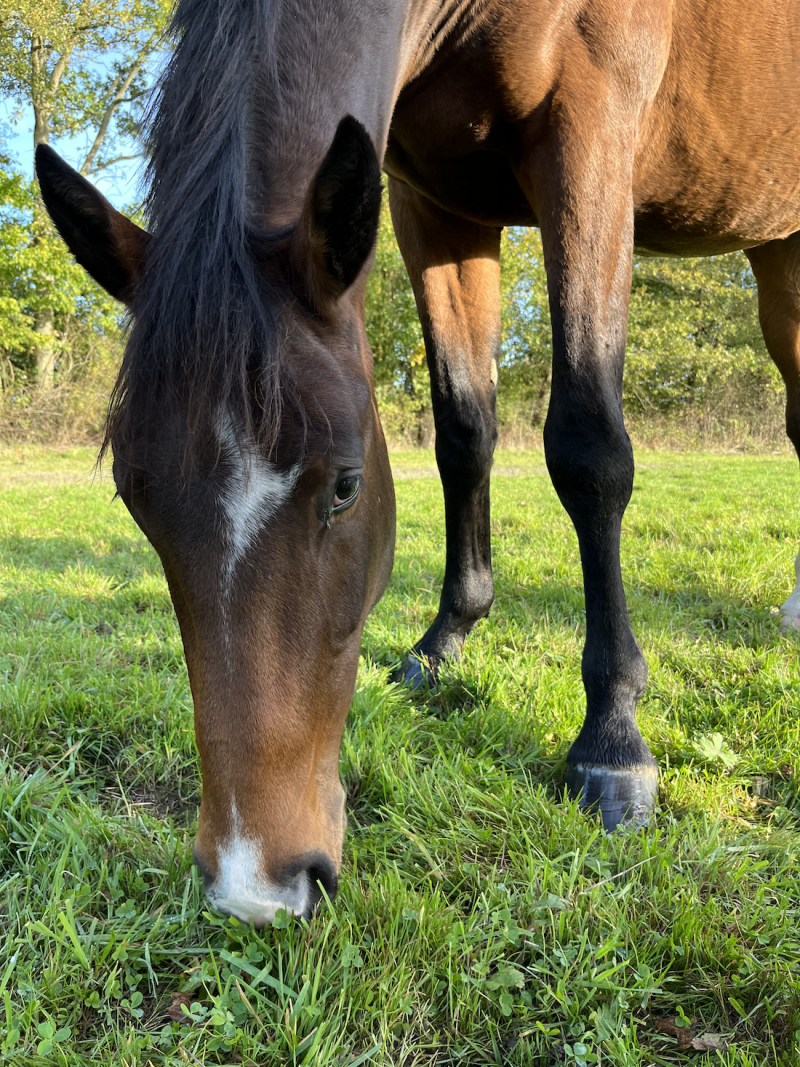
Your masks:
<instances>
[{"instance_id":1,"label":"sunlit green tree foliage left of the horse, around its left ear","mask_svg":"<svg viewBox=\"0 0 800 1067\"><path fill-rule=\"evenodd\" d=\"M84 136L77 165L87 175L140 154L131 149L169 7L167 0L0 0L0 92L19 108L15 121L32 110L34 144ZM53 357L54 381L63 385L76 360L85 366L98 352L108 356L118 334L118 307L74 264L35 188L4 157L0 313L6 427L18 428L20 407L35 407L37 351L49 393Z\"/></svg>"}]
</instances>

